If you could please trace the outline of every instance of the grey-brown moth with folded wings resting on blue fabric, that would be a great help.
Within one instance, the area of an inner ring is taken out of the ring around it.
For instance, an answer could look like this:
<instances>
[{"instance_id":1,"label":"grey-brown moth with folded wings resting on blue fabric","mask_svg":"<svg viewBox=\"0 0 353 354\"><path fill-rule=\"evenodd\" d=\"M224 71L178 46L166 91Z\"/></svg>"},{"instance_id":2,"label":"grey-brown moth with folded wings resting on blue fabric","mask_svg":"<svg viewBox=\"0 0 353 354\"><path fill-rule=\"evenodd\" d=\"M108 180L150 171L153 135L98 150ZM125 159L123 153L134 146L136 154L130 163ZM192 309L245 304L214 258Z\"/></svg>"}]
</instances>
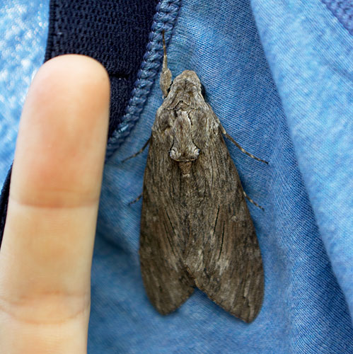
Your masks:
<instances>
[{"instance_id":1,"label":"grey-brown moth with folded wings resting on blue fabric","mask_svg":"<svg viewBox=\"0 0 353 354\"><path fill-rule=\"evenodd\" d=\"M145 144L139 248L144 287L161 314L173 312L198 287L250 322L264 294L262 258L224 137L263 160L226 133L195 72L185 70L172 82L164 33L163 49L164 101Z\"/></svg>"}]
</instances>

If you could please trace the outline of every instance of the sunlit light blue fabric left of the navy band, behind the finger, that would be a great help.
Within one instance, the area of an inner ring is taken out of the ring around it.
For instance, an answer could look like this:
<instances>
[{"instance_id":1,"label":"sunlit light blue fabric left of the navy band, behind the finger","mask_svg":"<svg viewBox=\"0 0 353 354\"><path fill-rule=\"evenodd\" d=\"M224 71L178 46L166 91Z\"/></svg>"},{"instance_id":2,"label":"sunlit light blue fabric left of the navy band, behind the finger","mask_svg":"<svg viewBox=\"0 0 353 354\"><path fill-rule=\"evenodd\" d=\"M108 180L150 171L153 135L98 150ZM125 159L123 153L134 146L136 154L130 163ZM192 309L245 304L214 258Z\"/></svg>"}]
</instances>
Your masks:
<instances>
[{"instance_id":1,"label":"sunlit light blue fabric left of the navy band, behind the finger","mask_svg":"<svg viewBox=\"0 0 353 354\"><path fill-rule=\"evenodd\" d=\"M48 0L0 0L1 185L13 160L25 95L44 60L48 18Z\"/></svg>"}]
</instances>

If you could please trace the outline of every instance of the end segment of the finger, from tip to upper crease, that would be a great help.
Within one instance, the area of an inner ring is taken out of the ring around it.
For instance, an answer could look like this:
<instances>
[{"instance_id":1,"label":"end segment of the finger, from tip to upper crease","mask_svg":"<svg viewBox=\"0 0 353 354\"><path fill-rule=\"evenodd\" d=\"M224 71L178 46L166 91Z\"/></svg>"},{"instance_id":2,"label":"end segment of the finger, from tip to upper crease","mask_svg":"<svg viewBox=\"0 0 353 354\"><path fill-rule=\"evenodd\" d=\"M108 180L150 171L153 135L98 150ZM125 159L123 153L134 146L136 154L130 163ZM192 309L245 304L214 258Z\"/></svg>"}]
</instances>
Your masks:
<instances>
[{"instance_id":1,"label":"end segment of the finger, from tip to upper crease","mask_svg":"<svg viewBox=\"0 0 353 354\"><path fill-rule=\"evenodd\" d=\"M109 76L95 59L62 55L45 62L23 106L11 196L45 205L97 200L109 101Z\"/></svg>"}]
</instances>

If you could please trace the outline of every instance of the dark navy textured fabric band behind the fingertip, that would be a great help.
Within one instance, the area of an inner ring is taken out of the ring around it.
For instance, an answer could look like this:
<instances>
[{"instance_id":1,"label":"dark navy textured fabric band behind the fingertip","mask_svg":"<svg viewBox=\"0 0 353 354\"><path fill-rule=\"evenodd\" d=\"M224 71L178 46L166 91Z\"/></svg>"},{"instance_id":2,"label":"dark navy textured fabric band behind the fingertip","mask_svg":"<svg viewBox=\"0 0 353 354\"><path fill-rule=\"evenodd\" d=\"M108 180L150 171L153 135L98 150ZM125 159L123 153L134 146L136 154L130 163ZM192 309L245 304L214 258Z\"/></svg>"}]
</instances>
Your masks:
<instances>
[{"instance_id":1,"label":"dark navy textured fabric band behind the fingertip","mask_svg":"<svg viewBox=\"0 0 353 354\"><path fill-rule=\"evenodd\" d=\"M51 0L45 60L88 55L110 76L109 136L121 122L146 52L157 0Z\"/></svg>"}]
</instances>

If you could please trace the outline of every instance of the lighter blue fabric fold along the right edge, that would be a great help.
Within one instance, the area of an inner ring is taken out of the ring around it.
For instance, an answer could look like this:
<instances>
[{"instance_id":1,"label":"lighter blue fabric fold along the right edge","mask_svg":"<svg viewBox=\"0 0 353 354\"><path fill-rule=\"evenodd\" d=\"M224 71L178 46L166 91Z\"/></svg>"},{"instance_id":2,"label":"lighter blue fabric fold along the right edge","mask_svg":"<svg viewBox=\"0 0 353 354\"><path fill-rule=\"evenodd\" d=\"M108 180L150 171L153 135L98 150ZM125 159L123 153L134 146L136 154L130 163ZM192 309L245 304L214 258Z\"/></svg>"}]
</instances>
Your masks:
<instances>
[{"instance_id":1,"label":"lighter blue fabric fold along the right edge","mask_svg":"<svg viewBox=\"0 0 353 354\"><path fill-rule=\"evenodd\" d=\"M352 314L353 37L323 4L254 1L253 8L320 237Z\"/></svg>"}]
</instances>

